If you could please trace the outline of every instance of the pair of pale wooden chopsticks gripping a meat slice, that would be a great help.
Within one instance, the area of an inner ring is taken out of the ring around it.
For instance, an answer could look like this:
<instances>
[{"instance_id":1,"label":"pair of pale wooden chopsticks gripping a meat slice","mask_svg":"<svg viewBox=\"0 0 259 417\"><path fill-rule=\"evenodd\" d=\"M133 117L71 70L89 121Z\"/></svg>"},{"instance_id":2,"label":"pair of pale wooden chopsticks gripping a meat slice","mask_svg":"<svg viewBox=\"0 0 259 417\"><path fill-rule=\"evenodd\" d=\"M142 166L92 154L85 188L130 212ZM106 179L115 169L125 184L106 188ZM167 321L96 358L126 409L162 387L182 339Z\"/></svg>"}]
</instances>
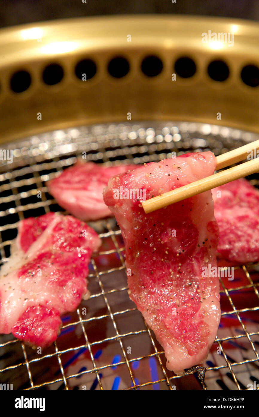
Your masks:
<instances>
[{"instance_id":1,"label":"pair of pale wooden chopsticks gripping a meat slice","mask_svg":"<svg viewBox=\"0 0 259 417\"><path fill-rule=\"evenodd\" d=\"M243 161L247 158L248 152L257 151L257 149L259 149L259 140L234 149L234 151L229 151L217 156L216 170L232 165L233 163ZM185 200L185 198L196 196L204 191L219 187L228 182L237 180L238 178L251 175L257 171L259 171L259 158L256 158L255 156L255 159L252 159L251 161L244 162L209 177L202 178L199 181L195 181L183 187L163 193L160 196L143 201L142 207L145 213L151 213L159 208L167 207L170 204Z\"/></svg>"}]
</instances>

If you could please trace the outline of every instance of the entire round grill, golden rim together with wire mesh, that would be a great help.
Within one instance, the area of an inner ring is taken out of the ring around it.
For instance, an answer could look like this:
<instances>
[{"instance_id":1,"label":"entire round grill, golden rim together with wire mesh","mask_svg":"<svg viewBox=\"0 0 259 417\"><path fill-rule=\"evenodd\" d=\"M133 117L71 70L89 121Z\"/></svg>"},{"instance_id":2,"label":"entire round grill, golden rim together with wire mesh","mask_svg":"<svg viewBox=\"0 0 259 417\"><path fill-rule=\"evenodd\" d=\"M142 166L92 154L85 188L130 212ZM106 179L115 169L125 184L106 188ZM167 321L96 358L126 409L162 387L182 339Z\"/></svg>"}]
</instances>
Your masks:
<instances>
[{"instance_id":1,"label":"entire round grill, golden rim together with wire mesh","mask_svg":"<svg viewBox=\"0 0 259 417\"><path fill-rule=\"evenodd\" d=\"M234 33L234 46L202 43L209 30ZM163 16L1 30L1 148L2 155L12 153L12 161L0 161L2 263L19 220L63 211L45 183L82 152L107 165L145 163L172 152L219 155L258 139L258 36L254 23ZM258 175L249 180L259 186ZM222 320L205 367L175 376L128 298L115 219L90 225L105 248L91 259L90 299L62 317L61 334L42 353L0 336L1 383L13 389L248 389L258 382L258 264L235 267L234 281L221 281Z\"/></svg>"}]
</instances>

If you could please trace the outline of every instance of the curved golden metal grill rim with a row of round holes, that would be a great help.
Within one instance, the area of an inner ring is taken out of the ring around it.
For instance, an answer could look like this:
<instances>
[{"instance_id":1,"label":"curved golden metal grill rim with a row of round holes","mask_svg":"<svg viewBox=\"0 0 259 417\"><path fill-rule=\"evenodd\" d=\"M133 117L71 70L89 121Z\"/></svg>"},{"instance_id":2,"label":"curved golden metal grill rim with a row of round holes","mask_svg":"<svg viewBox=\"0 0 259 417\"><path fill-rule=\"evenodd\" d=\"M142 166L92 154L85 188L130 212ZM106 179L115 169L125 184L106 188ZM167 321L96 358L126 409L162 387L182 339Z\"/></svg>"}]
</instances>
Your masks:
<instances>
[{"instance_id":1,"label":"curved golden metal grill rim with a row of round holes","mask_svg":"<svg viewBox=\"0 0 259 417\"><path fill-rule=\"evenodd\" d=\"M233 47L224 41L203 43L202 33L209 31L233 33ZM258 86L241 78L245 66L259 68L258 39L256 22L187 15L75 18L0 29L0 142L70 126L123 123L128 113L135 121L187 119L259 133ZM154 77L141 70L150 55L163 63ZM109 74L109 62L117 56L130 65L125 77ZM190 78L177 74L175 82L172 75L181 57L193 59L197 71ZM97 67L86 83L75 74L82 59ZM229 68L223 82L208 74L215 60ZM43 72L52 64L62 66L64 77L48 85ZM10 83L20 70L30 74L32 83L16 93Z\"/></svg>"}]
</instances>

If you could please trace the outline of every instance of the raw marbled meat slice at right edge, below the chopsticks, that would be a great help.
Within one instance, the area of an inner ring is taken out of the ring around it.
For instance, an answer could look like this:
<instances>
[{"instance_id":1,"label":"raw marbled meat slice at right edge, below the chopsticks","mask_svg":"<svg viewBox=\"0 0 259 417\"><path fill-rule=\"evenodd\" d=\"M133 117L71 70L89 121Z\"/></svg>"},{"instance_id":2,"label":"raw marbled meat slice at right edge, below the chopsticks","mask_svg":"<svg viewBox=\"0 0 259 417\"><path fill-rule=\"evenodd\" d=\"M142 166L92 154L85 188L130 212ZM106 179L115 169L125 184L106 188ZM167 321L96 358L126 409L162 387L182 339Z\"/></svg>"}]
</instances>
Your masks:
<instances>
[{"instance_id":1,"label":"raw marbled meat slice at right edge, below the chopsticks","mask_svg":"<svg viewBox=\"0 0 259 417\"><path fill-rule=\"evenodd\" d=\"M241 178L214 188L212 196L220 256L239 264L259 261L259 191Z\"/></svg>"}]
</instances>

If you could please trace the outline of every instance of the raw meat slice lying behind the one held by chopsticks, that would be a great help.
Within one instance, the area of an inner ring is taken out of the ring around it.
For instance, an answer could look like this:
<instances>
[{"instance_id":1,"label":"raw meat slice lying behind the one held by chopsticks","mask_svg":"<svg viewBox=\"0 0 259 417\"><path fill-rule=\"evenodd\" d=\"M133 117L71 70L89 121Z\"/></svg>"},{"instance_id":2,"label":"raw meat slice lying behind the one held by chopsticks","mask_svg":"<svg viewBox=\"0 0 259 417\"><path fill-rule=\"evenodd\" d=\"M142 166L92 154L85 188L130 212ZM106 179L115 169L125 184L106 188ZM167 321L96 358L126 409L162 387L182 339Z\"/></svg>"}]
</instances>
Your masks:
<instances>
[{"instance_id":1,"label":"raw meat slice lying behind the one held by chopsticks","mask_svg":"<svg viewBox=\"0 0 259 417\"><path fill-rule=\"evenodd\" d=\"M136 168L136 165L103 166L94 162L77 162L60 176L47 182L49 192L59 206L81 220L111 216L104 204L103 189L113 175Z\"/></svg>"}]
</instances>

